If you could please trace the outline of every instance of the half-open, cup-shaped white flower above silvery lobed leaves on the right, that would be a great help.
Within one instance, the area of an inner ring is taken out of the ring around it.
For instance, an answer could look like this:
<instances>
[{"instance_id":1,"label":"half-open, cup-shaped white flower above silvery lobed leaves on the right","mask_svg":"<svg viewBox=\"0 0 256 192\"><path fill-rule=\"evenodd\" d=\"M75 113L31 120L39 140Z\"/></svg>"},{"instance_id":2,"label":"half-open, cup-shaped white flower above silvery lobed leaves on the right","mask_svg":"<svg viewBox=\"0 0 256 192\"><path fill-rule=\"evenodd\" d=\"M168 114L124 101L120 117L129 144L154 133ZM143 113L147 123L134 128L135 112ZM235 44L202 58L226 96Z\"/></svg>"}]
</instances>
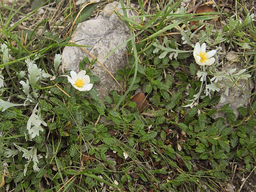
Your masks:
<instances>
[{"instance_id":1,"label":"half-open, cup-shaped white flower above silvery lobed leaves on the right","mask_svg":"<svg viewBox=\"0 0 256 192\"><path fill-rule=\"evenodd\" d=\"M206 44L203 43L202 46L200 46L200 44L197 42L194 48L194 58L196 60L196 63L198 65L212 65L215 61L215 59L213 58L213 55L215 55L216 50L212 50L209 52L206 52Z\"/></svg>"}]
</instances>

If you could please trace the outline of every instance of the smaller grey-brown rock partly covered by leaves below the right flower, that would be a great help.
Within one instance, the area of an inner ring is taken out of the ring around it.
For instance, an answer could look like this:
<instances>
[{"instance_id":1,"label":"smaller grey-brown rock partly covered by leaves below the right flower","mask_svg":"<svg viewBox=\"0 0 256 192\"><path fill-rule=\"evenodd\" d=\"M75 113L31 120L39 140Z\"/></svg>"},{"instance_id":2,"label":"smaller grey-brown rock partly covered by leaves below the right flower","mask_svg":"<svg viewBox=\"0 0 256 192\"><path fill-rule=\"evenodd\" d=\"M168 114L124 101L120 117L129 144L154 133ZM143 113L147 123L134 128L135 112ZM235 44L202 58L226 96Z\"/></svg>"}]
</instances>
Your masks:
<instances>
[{"instance_id":1,"label":"smaller grey-brown rock partly covered by leaves below the right flower","mask_svg":"<svg viewBox=\"0 0 256 192\"><path fill-rule=\"evenodd\" d=\"M230 63L227 62L224 66L225 71L229 71L230 69L237 68L237 71L241 70L241 65L237 63ZM237 86L233 86L229 88L229 94L228 96L225 95L225 84L220 83L220 87L223 87L220 89L220 102L215 106L215 109L220 109L227 103L229 104L229 107L234 109L234 113L236 114L236 117L239 115L239 111L237 110L238 107L245 107L247 108L249 105L249 98L252 92L252 89L254 88L254 83L252 80L248 83L247 80L240 79L237 82ZM216 119L218 117L225 117L224 113L221 111L218 111L216 114L213 115L213 118Z\"/></svg>"}]
</instances>

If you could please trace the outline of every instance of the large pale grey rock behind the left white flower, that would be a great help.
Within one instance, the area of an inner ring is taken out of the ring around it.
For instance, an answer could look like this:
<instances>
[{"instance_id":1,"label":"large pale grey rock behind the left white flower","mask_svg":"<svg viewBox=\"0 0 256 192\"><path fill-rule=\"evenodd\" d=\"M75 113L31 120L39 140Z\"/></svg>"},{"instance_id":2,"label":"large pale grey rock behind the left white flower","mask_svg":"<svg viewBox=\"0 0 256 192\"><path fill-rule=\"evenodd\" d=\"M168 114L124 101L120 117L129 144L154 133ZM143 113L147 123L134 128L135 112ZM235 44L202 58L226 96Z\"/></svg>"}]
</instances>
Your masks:
<instances>
[{"instance_id":1,"label":"large pale grey rock behind the left white flower","mask_svg":"<svg viewBox=\"0 0 256 192\"><path fill-rule=\"evenodd\" d=\"M123 13L118 2L107 4L97 18L78 24L71 41L90 46L85 47L86 51L97 58L114 75L119 68L124 68L125 63L127 63L126 45L120 47L107 58L104 57L119 44L126 41L130 37L130 32L113 10ZM84 56L90 58L79 47L65 47L62 53L62 71L67 69L78 72L79 62ZM93 87L99 91L100 97L107 95L110 90L121 90L116 81L99 63L96 62L93 66L93 74L100 77L100 82L94 84Z\"/></svg>"}]
</instances>

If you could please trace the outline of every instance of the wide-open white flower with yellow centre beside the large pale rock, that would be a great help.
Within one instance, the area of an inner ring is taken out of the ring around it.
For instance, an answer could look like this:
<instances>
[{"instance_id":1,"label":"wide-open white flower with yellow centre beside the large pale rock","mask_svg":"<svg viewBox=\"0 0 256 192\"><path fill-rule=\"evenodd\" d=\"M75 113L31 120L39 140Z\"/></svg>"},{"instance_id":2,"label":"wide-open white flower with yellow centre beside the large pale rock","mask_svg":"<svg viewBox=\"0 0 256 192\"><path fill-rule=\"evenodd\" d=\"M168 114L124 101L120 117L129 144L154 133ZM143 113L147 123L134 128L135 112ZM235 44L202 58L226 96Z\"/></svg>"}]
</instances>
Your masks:
<instances>
[{"instance_id":1,"label":"wide-open white flower with yellow centre beside the large pale rock","mask_svg":"<svg viewBox=\"0 0 256 192\"><path fill-rule=\"evenodd\" d=\"M93 84L90 83L90 77L85 74L85 70L80 71L78 74L75 71L70 71L71 77L67 76L68 81L79 91L90 91Z\"/></svg>"}]
</instances>

